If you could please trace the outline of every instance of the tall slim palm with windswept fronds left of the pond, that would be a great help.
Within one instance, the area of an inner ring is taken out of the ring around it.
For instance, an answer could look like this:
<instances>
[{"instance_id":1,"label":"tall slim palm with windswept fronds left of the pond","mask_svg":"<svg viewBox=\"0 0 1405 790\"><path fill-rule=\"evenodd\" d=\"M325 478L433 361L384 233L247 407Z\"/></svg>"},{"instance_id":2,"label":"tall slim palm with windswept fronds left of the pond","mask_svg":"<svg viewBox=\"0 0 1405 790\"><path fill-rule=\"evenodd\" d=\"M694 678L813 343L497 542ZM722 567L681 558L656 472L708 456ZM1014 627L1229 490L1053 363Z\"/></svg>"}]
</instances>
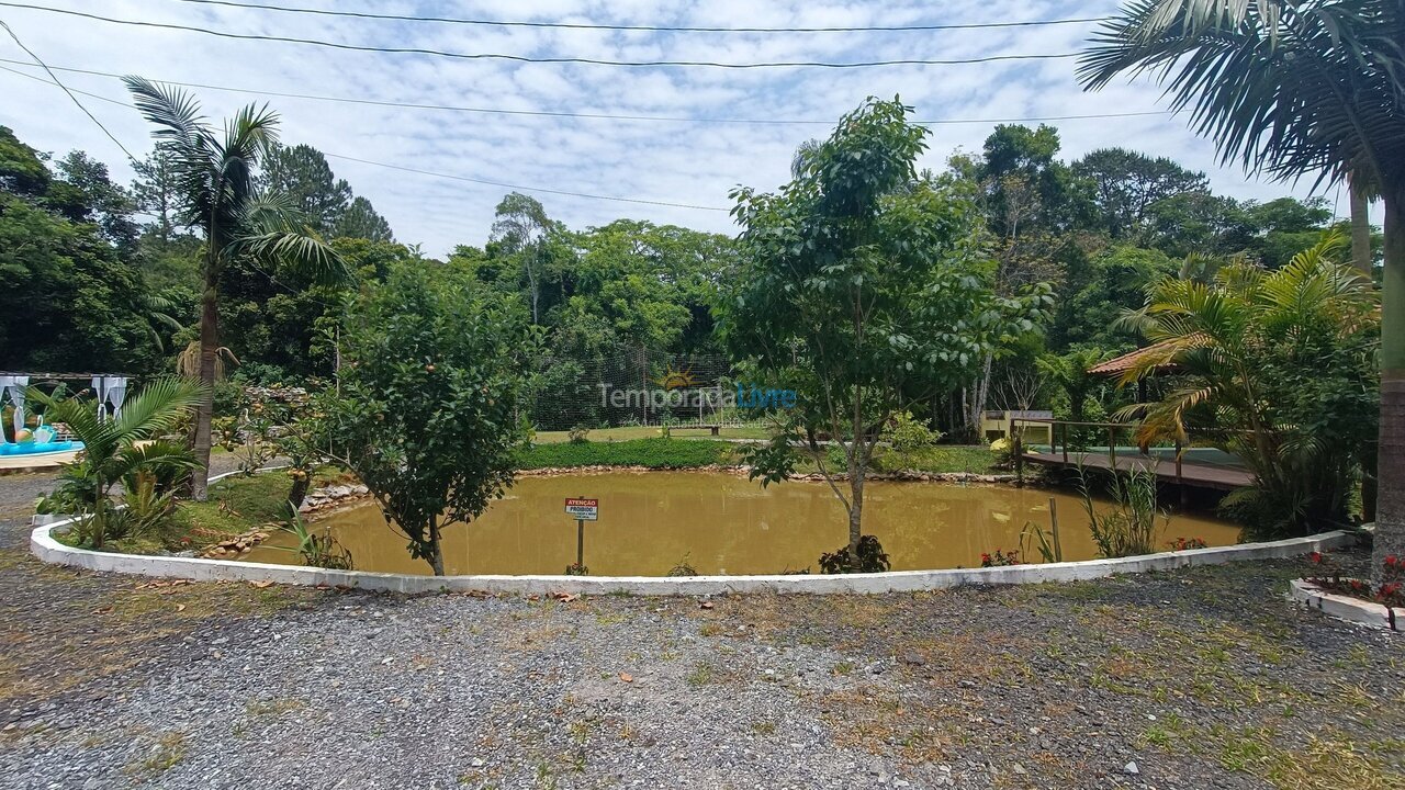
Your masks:
<instances>
[{"instance_id":1,"label":"tall slim palm with windswept fronds left of the pond","mask_svg":"<svg viewBox=\"0 0 1405 790\"><path fill-rule=\"evenodd\" d=\"M205 499L209 477L209 423L219 350L219 274L230 264L291 267L323 283L348 277L341 259L280 195L260 194L259 157L277 142L278 117L267 107L244 107L216 134L190 94L140 77L124 77L136 108L155 124L153 136L170 153L177 187L177 219L205 236L200 311L200 408L194 451L201 468L191 475L191 496Z\"/></svg>"}]
</instances>

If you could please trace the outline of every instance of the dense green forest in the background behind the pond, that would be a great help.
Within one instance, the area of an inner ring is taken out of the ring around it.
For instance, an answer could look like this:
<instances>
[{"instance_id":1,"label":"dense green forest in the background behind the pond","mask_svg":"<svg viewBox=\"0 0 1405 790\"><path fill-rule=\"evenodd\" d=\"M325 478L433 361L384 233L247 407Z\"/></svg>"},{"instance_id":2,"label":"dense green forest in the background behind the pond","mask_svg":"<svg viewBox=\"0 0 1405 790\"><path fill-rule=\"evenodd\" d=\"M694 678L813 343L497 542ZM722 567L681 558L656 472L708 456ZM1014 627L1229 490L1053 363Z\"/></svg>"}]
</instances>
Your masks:
<instances>
[{"instance_id":1,"label":"dense green forest in the background behind the pond","mask_svg":"<svg viewBox=\"0 0 1405 790\"><path fill-rule=\"evenodd\" d=\"M976 380L930 405L923 416L950 436L969 434L988 408L1104 416L1125 396L1083 371L1138 344L1118 318L1141 308L1154 283L1232 259L1277 268L1333 222L1321 198L1236 201L1165 157L1111 148L1065 160L1059 149L1052 127L1000 125L978 155L955 155L946 170L923 174L968 197L981 215L971 243L986 250L998 291L1048 283L1055 292L1037 339L986 360ZM177 224L167 157L157 146L124 187L83 152L45 155L0 127L0 368L153 374L178 365L195 340L204 240ZM514 193L497 205L486 243L431 260L398 242L312 146L278 146L257 183L285 195L362 281L419 260L511 295L540 342L537 388L568 395L540 405L538 423L613 419L583 406L590 392L582 384L611 360L707 367L722 358L712 309L738 266L728 236L634 219L572 229ZM230 378L271 384L333 373L339 316L354 284L325 287L292 268L253 264L226 267L221 278L219 343ZM576 410L554 419L548 412L562 402Z\"/></svg>"}]
</instances>

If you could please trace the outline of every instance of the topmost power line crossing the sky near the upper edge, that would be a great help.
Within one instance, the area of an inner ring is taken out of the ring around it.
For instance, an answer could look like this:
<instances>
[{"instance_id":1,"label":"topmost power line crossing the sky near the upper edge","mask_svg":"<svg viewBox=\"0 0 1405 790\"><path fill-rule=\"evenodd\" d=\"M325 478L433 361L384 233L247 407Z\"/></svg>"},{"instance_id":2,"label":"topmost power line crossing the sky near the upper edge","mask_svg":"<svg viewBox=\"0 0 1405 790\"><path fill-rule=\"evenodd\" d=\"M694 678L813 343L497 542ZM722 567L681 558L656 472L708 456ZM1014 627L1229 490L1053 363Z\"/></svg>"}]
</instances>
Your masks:
<instances>
[{"instance_id":1,"label":"topmost power line crossing the sky near the upper edge","mask_svg":"<svg viewBox=\"0 0 1405 790\"><path fill-rule=\"evenodd\" d=\"M1071 25L1103 22L1111 17L1079 17L1065 20L1028 20L1006 22L961 22L961 24L919 24L919 25L851 25L851 27L822 27L822 28L724 28L724 27L684 27L684 25L610 25L597 22L531 22L507 20L472 20L459 17L416 17L406 14L371 14L367 11L329 11L325 8L302 8L292 6L273 6L261 3L233 3L232 0L178 0L181 3L195 3L201 6L226 6L232 8L257 8L264 11L282 11L288 14L315 14L320 17L347 17L358 20L388 20L403 22L441 22L455 25L483 25L483 27L518 27L518 28L554 28L554 30L604 30L604 31L641 31L641 32L910 32L910 31L944 31L944 30L995 30L1021 28L1044 25Z\"/></svg>"}]
</instances>

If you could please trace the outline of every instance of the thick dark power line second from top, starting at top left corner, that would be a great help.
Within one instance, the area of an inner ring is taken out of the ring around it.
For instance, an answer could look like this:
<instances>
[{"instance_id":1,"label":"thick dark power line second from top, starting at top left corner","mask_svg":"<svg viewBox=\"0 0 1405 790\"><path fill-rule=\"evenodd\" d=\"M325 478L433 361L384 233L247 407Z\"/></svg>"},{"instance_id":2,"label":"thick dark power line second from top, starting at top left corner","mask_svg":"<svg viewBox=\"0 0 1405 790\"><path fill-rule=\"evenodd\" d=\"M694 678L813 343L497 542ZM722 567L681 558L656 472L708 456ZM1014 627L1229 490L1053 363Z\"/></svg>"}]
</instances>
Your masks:
<instances>
[{"instance_id":1,"label":"thick dark power line second from top, starting at top left corner","mask_svg":"<svg viewBox=\"0 0 1405 790\"><path fill-rule=\"evenodd\" d=\"M995 63L1005 60L1052 60L1061 58L1076 58L1076 52L1061 52L1048 55L986 55L982 58L951 58L951 59L894 59L894 60L860 60L851 63L833 63L829 60L774 60L763 63L722 63L717 60L604 60L597 58L530 58L525 55L502 55L502 53L488 53L488 52L447 52L443 49L422 49L417 46L362 46L357 44L341 44L334 41L319 41L315 38L292 38L285 35L254 35L242 32L228 32L216 31L209 28L201 28L194 25L177 25L170 22L145 22L136 20L118 20L114 17L101 17L98 14L87 14L83 11L72 11L67 8L46 8L44 6L30 6L25 3L0 3L0 7L7 8L25 8L31 11L46 11L51 14L66 14L70 17L83 17L87 20L96 20L101 22L111 22L118 25L132 25L145 28L160 28L160 30L176 30L184 32L198 32L202 35L212 35L218 38L233 38L239 41L271 41L278 44L303 44L309 46L325 46L330 49L346 49L353 52L378 52L382 55L430 55L436 58L452 58L458 60L510 60L516 63L584 63L592 66L631 66L631 67L656 67L656 66L690 66L690 67L711 67L711 69L776 69L776 67L815 67L815 69L863 69L873 66L955 66L967 63Z\"/></svg>"}]
</instances>

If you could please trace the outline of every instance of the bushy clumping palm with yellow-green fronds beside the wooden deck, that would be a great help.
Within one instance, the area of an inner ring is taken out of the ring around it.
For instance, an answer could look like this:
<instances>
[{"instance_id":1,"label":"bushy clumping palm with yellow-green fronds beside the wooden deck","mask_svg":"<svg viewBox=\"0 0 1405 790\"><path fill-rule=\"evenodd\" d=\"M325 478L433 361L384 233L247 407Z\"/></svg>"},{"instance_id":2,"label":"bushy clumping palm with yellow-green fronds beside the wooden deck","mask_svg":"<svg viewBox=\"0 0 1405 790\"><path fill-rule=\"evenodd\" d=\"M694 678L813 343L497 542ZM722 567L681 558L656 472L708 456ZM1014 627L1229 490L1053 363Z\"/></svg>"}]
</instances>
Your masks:
<instances>
[{"instance_id":1,"label":"bushy clumping palm with yellow-green fronds beside the wooden deck","mask_svg":"<svg viewBox=\"0 0 1405 790\"><path fill-rule=\"evenodd\" d=\"M1336 263L1345 247L1333 233L1277 271L1241 260L1210 283L1168 277L1138 311L1155 344L1123 382L1168 367L1176 378L1159 402L1123 413L1144 413L1142 446L1187 441L1187 423L1211 429L1255 474L1253 488L1225 500L1250 531L1307 534L1345 522L1374 427L1378 342L1375 294ZM1311 389L1311 380L1326 384Z\"/></svg>"}]
</instances>

